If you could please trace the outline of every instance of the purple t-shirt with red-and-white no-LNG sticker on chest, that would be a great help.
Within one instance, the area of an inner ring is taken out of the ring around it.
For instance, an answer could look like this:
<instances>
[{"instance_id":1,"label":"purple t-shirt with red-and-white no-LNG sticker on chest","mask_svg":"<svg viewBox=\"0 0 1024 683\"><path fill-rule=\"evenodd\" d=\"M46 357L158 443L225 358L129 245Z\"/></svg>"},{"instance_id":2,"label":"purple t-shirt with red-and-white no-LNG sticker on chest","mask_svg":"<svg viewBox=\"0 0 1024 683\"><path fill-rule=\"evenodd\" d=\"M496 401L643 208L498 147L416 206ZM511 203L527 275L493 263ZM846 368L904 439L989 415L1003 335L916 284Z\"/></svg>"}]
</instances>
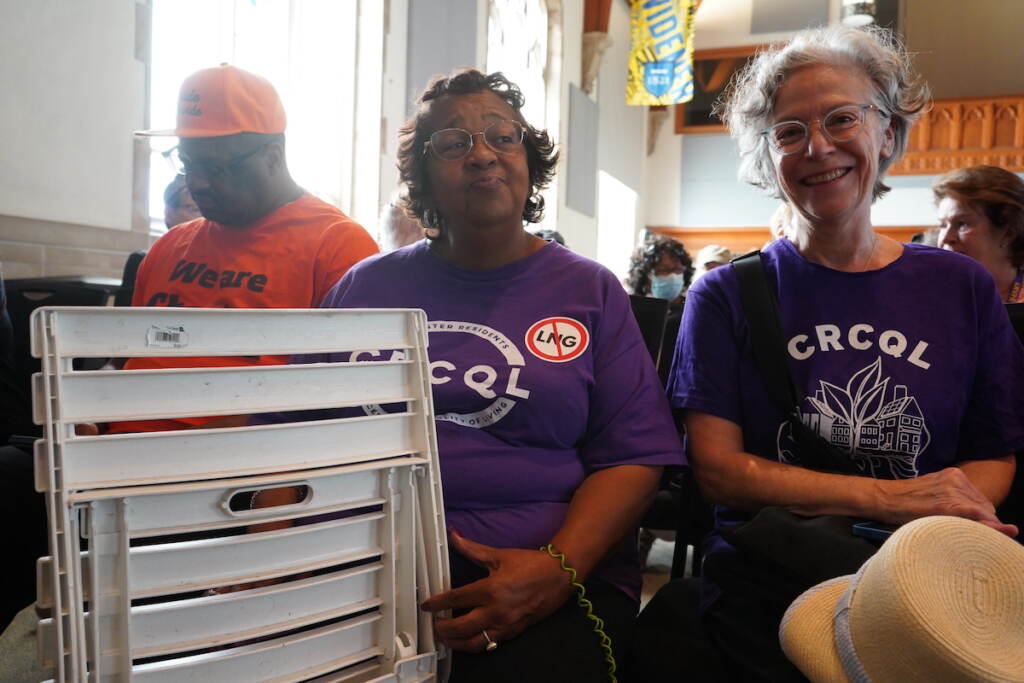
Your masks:
<instances>
[{"instance_id":1,"label":"purple t-shirt with red-and-white no-LNG sticker on chest","mask_svg":"<svg viewBox=\"0 0 1024 683\"><path fill-rule=\"evenodd\" d=\"M591 472L682 461L629 298L557 244L474 271L420 242L362 261L321 305L426 311L445 515L468 539L540 548ZM628 538L593 578L636 598L635 546ZM452 566L456 586L481 572L455 556Z\"/></svg>"}]
</instances>

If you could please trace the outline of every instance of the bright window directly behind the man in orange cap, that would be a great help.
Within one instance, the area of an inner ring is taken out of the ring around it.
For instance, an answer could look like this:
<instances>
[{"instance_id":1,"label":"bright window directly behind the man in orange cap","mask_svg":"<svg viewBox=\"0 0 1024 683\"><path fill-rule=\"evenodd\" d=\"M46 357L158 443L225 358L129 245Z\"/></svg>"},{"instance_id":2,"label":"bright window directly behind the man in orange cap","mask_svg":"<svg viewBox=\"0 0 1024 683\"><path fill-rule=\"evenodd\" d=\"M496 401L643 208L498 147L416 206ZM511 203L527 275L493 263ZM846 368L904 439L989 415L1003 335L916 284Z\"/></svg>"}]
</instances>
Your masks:
<instances>
[{"instance_id":1,"label":"bright window directly behind the man in orange cap","mask_svg":"<svg viewBox=\"0 0 1024 683\"><path fill-rule=\"evenodd\" d=\"M259 74L285 103L292 176L373 225L380 126L358 124L380 117L383 32L383 2L155 0L152 127L174 127L178 88L200 69L226 61ZM153 143L150 214L160 225L163 190L173 174L161 153L175 143Z\"/></svg>"}]
</instances>

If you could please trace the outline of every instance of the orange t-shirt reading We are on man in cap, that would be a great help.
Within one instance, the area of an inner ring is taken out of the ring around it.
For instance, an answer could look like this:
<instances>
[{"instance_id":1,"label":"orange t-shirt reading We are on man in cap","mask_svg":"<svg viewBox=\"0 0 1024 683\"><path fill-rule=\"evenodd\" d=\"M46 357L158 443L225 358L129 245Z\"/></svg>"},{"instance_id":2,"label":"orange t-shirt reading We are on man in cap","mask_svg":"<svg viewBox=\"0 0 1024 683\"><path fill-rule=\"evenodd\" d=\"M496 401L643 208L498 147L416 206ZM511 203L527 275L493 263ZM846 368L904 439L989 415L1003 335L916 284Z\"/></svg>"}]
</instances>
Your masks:
<instances>
[{"instance_id":1,"label":"orange t-shirt reading We are on man in cap","mask_svg":"<svg viewBox=\"0 0 1024 683\"><path fill-rule=\"evenodd\" d=\"M355 263L378 252L355 221L302 195L255 223L229 227L205 218L178 225L150 248L133 306L312 308ZM126 369L280 365L287 357L130 358ZM214 417L117 422L111 432L187 429Z\"/></svg>"}]
</instances>

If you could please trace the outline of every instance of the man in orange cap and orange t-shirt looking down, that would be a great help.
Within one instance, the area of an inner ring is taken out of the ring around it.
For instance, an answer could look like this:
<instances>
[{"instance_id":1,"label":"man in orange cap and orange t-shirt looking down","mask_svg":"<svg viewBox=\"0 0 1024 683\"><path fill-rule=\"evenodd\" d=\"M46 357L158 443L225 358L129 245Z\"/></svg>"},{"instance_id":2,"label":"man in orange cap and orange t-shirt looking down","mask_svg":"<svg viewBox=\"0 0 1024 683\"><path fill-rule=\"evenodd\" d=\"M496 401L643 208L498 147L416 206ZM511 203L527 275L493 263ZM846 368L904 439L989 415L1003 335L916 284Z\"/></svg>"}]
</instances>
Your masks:
<instances>
[{"instance_id":1,"label":"man in orange cap and orange t-shirt looking down","mask_svg":"<svg viewBox=\"0 0 1024 683\"><path fill-rule=\"evenodd\" d=\"M157 241L139 266L132 305L309 308L358 261L373 238L295 183L285 160L285 110L265 79L228 65L185 79L177 164L202 218ZM273 365L282 356L131 358L127 369ZM212 424L211 424L212 423ZM162 431L225 424L195 417L111 425Z\"/></svg>"}]
</instances>

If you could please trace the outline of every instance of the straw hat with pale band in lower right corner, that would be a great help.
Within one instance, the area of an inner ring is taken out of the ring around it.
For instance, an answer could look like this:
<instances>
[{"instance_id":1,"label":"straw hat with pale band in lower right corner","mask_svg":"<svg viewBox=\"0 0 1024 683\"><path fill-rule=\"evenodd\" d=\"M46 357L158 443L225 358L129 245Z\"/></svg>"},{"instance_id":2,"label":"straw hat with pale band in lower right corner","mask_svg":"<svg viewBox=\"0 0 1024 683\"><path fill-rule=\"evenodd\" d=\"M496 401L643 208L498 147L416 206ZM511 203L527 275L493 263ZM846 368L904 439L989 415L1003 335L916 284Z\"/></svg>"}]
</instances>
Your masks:
<instances>
[{"instance_id":1,"label":"straw hat with pale band in lower right corner","mask_svg":"<svg viewBox=\"0 0 1024 683\"><path fill-rule=\"evenodd\" d=\"M779 641L814 683L1024 681L1024 546L958 517L916 519L855 575L797 598Z\"/></svg>"}]
</instances>

